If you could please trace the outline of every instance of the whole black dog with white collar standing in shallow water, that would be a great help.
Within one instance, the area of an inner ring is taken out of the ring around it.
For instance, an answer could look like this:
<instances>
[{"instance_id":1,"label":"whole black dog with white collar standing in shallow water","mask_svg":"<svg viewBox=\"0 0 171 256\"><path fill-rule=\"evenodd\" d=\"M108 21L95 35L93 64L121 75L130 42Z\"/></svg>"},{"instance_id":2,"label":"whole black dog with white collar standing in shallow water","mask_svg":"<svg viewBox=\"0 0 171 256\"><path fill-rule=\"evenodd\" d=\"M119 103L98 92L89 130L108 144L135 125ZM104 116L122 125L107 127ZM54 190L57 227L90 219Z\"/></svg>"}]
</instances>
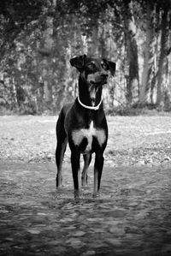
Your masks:
<instances>
[{"instance_id":1,"label":"whole black dog with white collar standing in shallow water","mask_svg":"<svg viewBox=\"0 0 171 256\"><path fill-rule=\"evenodd\" d=\"M62 185L62 160L67 143L71 150L74 197L80 196L80 154L84 157L82 185L87 183L87 169L95 152L94 190L97 196L103 171L103 151L108 140L108 126L103 111L102 89L108 73L115 74L115 63L105 59L80 56L70 60L80 71L79 95L74 104L63 106L56 124L56 187Z\"/></svg>"}]
</instances>

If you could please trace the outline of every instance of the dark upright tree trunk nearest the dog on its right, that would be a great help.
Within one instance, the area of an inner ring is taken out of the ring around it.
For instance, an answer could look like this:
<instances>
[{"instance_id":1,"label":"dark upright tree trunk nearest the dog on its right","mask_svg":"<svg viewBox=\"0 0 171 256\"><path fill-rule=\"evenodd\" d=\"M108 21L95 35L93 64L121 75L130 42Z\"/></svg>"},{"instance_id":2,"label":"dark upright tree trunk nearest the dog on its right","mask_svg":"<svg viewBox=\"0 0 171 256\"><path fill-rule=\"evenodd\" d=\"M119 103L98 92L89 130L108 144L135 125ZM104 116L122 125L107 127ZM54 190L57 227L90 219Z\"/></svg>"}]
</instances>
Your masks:
<instances>
[{"instance_id":1,"label":"dark upright tree trunk nearest the dog on its right","mask_svg":"<svg viewBox=\"0 0 171 256\"><path fill-rule=\"evenodd\" d=\"M127 104L133 102L133 96L139 95L139 63L138 63L138 46L136 40L136 26L133 17L132 1L124 1L125 4L125 37L127 44Z\"/></svg>"}]
</instances>

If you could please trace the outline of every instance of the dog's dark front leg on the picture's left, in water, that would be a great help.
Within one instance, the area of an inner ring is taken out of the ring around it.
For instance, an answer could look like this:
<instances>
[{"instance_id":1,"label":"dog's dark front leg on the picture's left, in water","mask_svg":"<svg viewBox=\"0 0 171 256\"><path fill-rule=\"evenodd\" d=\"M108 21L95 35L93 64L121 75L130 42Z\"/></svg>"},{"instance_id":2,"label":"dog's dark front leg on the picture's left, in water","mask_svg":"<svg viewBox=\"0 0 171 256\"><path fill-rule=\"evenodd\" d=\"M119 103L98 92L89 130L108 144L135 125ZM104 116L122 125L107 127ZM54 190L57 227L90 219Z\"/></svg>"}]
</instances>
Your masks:
<instances>
[{"instance_id":1,"label":"dog's dark front leg on the picture's left, in water","mask_svg":"<svg viewBox=\"0 0 171 256\"><path fill-rule=\"evenodd\" d=\"M74 198L80 197L80 153L71 152L71 165L74 181Z\"/></svg>"}]
</instances>

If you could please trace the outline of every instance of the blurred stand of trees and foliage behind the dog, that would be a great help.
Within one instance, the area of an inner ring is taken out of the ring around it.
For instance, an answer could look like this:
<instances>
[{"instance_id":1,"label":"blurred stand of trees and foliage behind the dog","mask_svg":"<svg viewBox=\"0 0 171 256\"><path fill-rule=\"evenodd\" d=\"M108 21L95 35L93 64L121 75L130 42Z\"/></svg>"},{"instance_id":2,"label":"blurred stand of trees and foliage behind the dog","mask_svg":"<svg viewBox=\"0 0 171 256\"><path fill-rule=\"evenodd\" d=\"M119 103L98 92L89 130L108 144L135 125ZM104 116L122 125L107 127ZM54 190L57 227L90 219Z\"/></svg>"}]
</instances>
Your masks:
<instances>
[{"instance_id":1,"label":"blurred stand of trees and foliage behind the dog","mask_svg":"<svg viewBox=\"0 0 171 256\"><path fill-rule=\"evenodd\" d=\"M77 95L69 59L116 63L107 114L171 110L171 0L0 3L0 114L56 114Z\"/></svg>"}]
</instances>

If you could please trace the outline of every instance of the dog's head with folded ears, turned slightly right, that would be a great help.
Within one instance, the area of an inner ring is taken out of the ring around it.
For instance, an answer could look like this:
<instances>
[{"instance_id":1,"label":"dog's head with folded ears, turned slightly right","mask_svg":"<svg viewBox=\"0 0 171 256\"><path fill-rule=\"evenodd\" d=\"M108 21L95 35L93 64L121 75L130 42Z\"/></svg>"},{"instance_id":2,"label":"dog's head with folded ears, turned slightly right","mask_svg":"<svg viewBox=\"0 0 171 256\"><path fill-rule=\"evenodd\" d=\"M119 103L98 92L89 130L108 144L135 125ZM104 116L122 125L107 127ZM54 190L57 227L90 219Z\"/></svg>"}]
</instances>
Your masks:
<instances>
[{"instance_id":1,"label":"dog's head with folded ears, turned slightly right","mask_svg":"<svg viewBox=\"0 0 171 256\"><path fill-rule=\"evenodd\" d=\"M83 77L91 85L104 85L110 74L115 74L115 63L104 58L91 58L86 55L74 57L70 60L72 66L80 71Z\"/></svg>"}]
</instances>

